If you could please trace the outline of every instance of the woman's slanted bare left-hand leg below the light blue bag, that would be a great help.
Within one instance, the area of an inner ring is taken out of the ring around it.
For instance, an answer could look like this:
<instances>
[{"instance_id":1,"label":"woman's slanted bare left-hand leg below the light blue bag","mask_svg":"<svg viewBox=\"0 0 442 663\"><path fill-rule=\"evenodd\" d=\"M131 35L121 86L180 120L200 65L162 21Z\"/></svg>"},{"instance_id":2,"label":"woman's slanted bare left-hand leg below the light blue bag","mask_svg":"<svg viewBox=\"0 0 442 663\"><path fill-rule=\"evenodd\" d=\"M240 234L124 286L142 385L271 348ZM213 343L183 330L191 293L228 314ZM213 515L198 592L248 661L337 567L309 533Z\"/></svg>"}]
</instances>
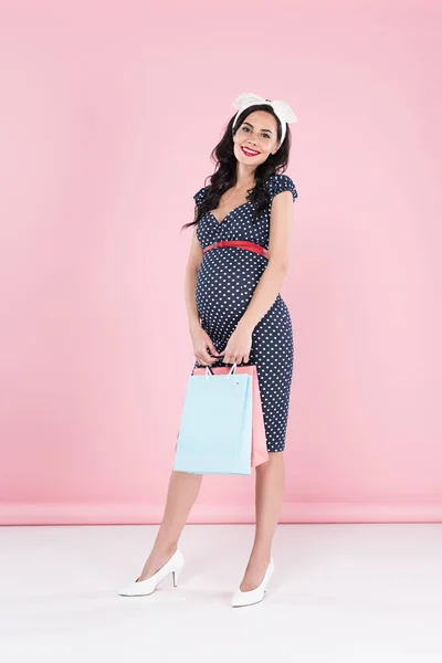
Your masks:
<instances>
[{"instance_id":1,"label":"woman's slanted bare left-hand leg below the light blue bag","mask_svg":"<svg viewBox=\"0 0 442 663\"><path fill-rule=\"evenodd\" d=\"M172 470L162 523L154 548L137 580L146 580L158 571L177 549L178 539L186 525L190 509L198 497L202 474L189 474Z\"/></svg>"}]
</instances>

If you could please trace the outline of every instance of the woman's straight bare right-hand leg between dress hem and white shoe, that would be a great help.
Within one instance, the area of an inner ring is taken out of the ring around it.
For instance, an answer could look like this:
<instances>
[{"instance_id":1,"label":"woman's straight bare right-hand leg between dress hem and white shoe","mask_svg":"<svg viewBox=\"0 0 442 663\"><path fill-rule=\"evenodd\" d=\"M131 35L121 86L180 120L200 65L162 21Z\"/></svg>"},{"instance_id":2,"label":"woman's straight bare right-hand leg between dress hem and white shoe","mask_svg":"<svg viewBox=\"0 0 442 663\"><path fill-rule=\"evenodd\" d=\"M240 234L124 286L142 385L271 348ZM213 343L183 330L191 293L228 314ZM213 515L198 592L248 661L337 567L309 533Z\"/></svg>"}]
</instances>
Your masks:
<instances>
[{"instance_id":1,"label":"woman's straight bare right-hand leg between dress hem and white shoe","mask_svg":"<svg viewBox=\"0 0 442 663\"><path fill-rule=\"evenodd\" d=\"M272 540L284 498L284 452L269 452L269 461L255 467L256 528L252 552L240 585L251 591L261 585L272 556Z\"/></svg>"}]
</instances>

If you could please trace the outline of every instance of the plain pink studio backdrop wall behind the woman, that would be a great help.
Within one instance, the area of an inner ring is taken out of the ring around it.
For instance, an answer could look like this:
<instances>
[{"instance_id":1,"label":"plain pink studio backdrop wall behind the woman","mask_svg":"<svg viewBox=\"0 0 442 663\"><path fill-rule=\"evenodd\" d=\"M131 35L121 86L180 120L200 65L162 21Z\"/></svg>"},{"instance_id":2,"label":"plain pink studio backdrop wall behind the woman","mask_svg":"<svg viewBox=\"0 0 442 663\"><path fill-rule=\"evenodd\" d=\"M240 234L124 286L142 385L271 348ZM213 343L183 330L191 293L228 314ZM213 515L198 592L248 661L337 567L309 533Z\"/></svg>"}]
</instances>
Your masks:
<instances>
[{"instance_id":1,"label":"plain pink studio backdrop wall behind the woman","mask_svg":"<svg viewBox=\"0 0 442 663\"><path fill-rule=\"evenodd\" d=\"M281 520L441 520L441 3L0 19L0 522L159 522L193 366L179 229L242 92L298 116ZM207 477L189 522L252 522L253 490Z\"/></svg>"}]
</instances>

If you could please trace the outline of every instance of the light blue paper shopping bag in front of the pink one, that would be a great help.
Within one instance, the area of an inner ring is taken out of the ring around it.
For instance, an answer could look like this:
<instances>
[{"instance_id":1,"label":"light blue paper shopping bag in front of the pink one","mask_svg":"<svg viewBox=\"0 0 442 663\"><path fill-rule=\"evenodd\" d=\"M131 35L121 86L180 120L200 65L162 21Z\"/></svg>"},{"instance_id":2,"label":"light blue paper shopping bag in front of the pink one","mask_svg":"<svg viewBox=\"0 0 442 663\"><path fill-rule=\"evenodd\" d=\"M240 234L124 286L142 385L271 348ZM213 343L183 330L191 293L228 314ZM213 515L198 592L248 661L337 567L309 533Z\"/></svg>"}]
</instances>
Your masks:
<instances>
[{"instance_id":1,"label":"light blue paper shopping bag in front of the pink one","mask_svg":"<svg viewBox=\"0 0 442 663\"><path fill-rule=\"evenodd\" d=\"M191 474L251 474L252 376L188 379L173 470Z\"/></svg>"}]
</instances>

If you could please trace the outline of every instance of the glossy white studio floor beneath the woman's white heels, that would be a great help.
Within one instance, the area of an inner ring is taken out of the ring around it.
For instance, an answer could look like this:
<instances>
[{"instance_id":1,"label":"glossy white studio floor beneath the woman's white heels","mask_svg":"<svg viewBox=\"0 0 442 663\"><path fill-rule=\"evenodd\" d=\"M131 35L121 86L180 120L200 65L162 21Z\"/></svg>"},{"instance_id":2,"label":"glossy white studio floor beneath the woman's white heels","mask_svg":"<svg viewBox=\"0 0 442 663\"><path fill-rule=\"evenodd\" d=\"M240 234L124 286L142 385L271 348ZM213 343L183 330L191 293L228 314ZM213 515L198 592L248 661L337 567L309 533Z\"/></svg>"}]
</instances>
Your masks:
<instances>
[{"instance_id":1,"label":"glossy white studio floor beneath the woman's white heels","mask_svg":"<svg viewBox=\"0 0 442 663\"><path fill-rule=\"evenodd\" d=\"M283 525L265 599L231 608L252 525L187 525L178 588L120 597L158 526L0 527L15 661L441 663L442 525Z\"/></svg>"}]
</instances>

